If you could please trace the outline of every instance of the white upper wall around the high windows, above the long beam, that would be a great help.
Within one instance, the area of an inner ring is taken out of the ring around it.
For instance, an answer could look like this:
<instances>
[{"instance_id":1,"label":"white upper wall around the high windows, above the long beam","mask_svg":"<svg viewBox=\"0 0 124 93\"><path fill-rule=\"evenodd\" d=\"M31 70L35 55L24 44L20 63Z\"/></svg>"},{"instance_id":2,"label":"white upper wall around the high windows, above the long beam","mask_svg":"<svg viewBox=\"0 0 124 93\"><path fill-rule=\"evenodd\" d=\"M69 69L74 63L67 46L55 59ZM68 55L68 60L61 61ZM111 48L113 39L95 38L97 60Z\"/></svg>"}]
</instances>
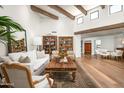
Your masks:
<instances>
[{"instance_id":1,"label":"white upper wall around the high windows, above the long beam","mask_svg":"<svg viewBox=\"0 0 124 93\"><path fill-rule=\"evenodd\" d=\"M99 6L89 10L86 16L83 14L77 16L74 24L74 32L124 22L124 9L123 12L118 12L111 15L109 15L108 9L108 6L106 6L105 9L101 9ZM90 20L90 13L96 10L99 10L99 19ZM84 22L82 24L77 24L77 18L80 16L84 17Z\"/></svg>"}]
</instances>

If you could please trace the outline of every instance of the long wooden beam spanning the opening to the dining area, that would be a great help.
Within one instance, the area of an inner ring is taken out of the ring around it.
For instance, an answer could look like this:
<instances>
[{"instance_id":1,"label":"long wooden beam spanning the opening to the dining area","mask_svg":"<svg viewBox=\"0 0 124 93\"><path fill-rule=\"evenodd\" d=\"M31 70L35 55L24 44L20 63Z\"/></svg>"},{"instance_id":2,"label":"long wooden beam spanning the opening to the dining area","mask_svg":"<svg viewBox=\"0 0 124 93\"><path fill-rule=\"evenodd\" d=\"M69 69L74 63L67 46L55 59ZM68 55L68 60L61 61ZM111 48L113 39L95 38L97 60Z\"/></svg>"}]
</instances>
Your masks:
<instances>
[{"instance_id":1,"label":"long wooden beam spanning the opening to the dining area","mask_svg":"<svg viewBox=\"0 0 124 93\"><path fill-rule=\"evenodd\" d=\"M100 31L107 31L107 30L117 29L117 28L124 28L124 23L118 23L118 24L113 24L113 25L109 25L109 26L103 26L103 27L98 27L98 28L92 28L92 29L88 29L88 30L82 30L82 31L75 32L74 34L75 34L75 35L87 34L87 33L100 32Z\"/></svg>"}]
</instances>

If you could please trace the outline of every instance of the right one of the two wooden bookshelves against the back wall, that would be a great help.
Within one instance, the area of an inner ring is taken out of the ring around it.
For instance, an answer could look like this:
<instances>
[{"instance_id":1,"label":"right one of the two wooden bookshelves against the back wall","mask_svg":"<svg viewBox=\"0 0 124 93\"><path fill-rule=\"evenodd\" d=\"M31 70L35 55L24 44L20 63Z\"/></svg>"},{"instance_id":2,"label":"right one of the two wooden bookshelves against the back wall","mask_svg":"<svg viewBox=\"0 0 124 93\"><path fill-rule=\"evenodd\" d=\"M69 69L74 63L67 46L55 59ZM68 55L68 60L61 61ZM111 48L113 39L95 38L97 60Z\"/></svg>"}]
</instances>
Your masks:
<instances>
[{"instance_id":1,"label":"right one of the two wooden bookshelves against the back wall","mask_svg":"<svg viewBox=\"0 0 124 93\"><path fill-rule=\"evenodd\" d=\"M73 51L73 37L61 36L59 37L59 51Z\"/></svg>"}]
</instances>

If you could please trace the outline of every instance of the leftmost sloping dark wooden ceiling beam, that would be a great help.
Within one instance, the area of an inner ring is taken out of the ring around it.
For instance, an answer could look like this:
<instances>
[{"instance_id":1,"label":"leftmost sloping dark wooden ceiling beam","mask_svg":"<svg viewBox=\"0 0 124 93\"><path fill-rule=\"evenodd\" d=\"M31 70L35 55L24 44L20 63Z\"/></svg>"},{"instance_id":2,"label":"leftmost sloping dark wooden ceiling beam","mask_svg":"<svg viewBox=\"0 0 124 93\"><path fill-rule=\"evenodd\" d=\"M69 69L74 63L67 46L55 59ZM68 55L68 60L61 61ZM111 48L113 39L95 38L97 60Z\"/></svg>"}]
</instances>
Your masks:
<instances>
[{"instance_id":1,"label":"leftmost sloping dark wooden ceiling beam","mask_svg":"<svg viewBox=\"0 0 124 93\"><path fill-rule=\"evenodd\" d=\"M48 17L50 17L52 19L55 19L55 20L59 19L58 16L56 16L56 15L54 15L52 13L49 13L49 12L47 12L47 11L41 9L41 8L38 8L38 7L34 6L34 5L31 5L31 10L34 11L34 12L40 13L42 15L48 16Z\"/></svg>"}]
</instances>

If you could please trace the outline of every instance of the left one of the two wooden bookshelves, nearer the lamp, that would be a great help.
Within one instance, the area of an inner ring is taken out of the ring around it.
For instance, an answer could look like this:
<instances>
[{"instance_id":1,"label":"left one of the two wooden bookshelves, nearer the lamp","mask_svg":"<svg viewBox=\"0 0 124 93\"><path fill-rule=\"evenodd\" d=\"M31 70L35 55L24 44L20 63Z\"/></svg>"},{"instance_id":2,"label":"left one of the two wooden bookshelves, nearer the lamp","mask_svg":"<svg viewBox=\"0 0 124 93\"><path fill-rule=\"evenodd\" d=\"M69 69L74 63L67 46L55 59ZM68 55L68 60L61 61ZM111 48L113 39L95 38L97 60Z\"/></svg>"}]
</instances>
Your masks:
<instances>
[{"instance_id":1,"label":"left one of the two wooden bookshelves, nearer the lamp","mask_svg":"<svg viewBox=\"0 0 124 93\"><path fill-rule=\"evenodd\" d=\"M57 36L43 36L43 49L45 54L52 54L53 50L57 50Z\"/></svg>"}]
</instances>

